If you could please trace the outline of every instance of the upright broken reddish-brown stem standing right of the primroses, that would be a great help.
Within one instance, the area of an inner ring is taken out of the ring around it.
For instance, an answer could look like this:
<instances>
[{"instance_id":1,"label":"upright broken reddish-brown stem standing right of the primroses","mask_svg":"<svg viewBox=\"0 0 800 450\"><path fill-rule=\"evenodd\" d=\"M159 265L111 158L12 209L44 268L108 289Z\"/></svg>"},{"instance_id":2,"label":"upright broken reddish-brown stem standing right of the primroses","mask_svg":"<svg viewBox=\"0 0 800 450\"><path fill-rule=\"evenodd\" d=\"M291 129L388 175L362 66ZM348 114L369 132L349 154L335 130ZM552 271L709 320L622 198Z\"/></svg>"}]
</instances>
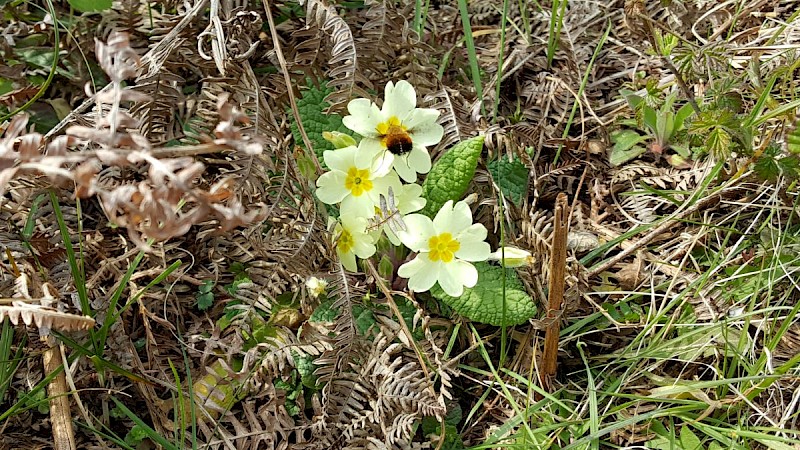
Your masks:
<instances>
[{"instance_id":1,"label":"upright broken reddish-brown stem standing right of the primroses","mask_svg":"<svg viewBox=\"0 0 800 450\"><path fill-rule=\"evenodd\" d=\"M569 204L567 194L556 198L553 218L553 241L550 250L550 286L548 292L547 320L550 324L544 334L544 354L539 373L539 382L549 391L558 367L558 334L561 331L561 305L564 301L564 286L567 266L567 233L569 232Z\"/></svg>"}]
</instances>

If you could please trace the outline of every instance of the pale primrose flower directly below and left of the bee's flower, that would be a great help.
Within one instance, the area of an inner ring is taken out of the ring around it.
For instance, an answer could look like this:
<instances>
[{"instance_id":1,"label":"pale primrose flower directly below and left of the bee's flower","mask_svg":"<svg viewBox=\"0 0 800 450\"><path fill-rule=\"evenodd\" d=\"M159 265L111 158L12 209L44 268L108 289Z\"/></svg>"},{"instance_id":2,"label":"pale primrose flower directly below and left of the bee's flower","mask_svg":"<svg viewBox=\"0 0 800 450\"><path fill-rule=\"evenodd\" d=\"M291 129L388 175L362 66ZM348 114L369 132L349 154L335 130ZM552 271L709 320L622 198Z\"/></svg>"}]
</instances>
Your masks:
<instances>
[{"instance_id":1,"label":"pale primrose flower directly below and left of the bee's flower","mask_svg":"<svg viewBox=\"0 0 800 450\"><path fill-rule=\"evenodd\" d=\"M351 146L323 153L330 171L317 180L317 198L329 205L341 202L341 211L368 218L375 215L380 195L386 196L390 186L395 192L400 190L400 179L389 167L378 167L371 161L359 163L358 152Z\"/></svg>"}]
</instances>

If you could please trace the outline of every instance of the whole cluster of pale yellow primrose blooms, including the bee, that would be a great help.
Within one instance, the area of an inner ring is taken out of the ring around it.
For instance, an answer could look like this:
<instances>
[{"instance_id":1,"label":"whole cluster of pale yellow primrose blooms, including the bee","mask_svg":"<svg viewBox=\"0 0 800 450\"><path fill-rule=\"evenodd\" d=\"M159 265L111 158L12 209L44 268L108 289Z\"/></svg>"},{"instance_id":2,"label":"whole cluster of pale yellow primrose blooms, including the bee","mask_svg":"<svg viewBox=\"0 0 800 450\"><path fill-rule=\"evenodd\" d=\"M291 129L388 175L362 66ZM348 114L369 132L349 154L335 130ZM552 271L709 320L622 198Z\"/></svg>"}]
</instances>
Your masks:
<instances>
[{"instance_id":1,"label":"whole cluster of pale yellow primrose blooms, including the bee","mask_svg":"<svg viewBox=\"0 0 800 450\"><path fill-rule=\"evenodd\" d=\"M407 81L386 85L381 108L368 99L351 101L342 122L361 140L323 154L330 170L317 180L317 198L339 204L339 219L332 219L329 229L347 270L357 270L356 257L373 256L385 235L417 253L397 271L408 278L410 290L424 292L438 282L457 297L478 281L471 263L490 259L487 230L472 223L464 202L448 201L433 220L413 214L426 204L417 174L430 171L428 147L444 134L436 123L439 112L416 106Z\"/></svg>"}]
</instances>

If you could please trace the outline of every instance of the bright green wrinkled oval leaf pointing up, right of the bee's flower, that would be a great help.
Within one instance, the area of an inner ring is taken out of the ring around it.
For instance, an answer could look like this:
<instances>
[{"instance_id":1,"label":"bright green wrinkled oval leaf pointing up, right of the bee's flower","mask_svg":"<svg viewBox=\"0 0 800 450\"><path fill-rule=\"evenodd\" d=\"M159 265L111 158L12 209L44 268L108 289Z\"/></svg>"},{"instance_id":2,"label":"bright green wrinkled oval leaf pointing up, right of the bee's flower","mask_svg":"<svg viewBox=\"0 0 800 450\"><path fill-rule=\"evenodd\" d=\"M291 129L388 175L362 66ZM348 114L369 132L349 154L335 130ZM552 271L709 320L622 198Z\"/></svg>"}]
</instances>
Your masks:
<instances>
[{"instance_id":1,"label":"bright green wrinkled oval leaf pointing up, right of the bee's flower","mask_svg":"<svg viewBox=\"0 0 800 450\"><path fill-rule=\"evenodd\" d=\"M461 141L442 155L422 183L422 198L427 200L421 213L433 217L447 203L461 200L475 176L483 150L483 136Z\"/></svg>"}]
</instances>

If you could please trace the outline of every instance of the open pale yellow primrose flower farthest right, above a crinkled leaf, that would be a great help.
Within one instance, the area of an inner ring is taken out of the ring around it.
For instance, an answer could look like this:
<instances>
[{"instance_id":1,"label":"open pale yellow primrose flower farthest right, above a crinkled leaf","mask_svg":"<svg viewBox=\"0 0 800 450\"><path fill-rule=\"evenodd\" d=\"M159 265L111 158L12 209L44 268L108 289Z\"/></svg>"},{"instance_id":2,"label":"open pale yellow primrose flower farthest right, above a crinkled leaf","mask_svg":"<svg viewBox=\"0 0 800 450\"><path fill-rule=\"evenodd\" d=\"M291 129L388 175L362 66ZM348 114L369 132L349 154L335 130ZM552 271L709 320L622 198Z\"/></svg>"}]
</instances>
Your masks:
<instances>
[{"instance_id":1,"label":"open pale yellow primrose flower farthest right, above a crinkled leaf","mask_svg":"<svg viewBox=\"0 0 800 450\"><path fill-rule=\"evenodd\" d=\"M468 261L485 261L489 256L486 227L472 223L472 211L464 202L448 201L433 220L422 214L404 219L408 229L397 235L406 247L418 252L403 264L397 274L408 278L414 292L429 290L435 283L452 297L464 292L464 286L478 282L478 271Z\"/></svg>"}]
</instances>

